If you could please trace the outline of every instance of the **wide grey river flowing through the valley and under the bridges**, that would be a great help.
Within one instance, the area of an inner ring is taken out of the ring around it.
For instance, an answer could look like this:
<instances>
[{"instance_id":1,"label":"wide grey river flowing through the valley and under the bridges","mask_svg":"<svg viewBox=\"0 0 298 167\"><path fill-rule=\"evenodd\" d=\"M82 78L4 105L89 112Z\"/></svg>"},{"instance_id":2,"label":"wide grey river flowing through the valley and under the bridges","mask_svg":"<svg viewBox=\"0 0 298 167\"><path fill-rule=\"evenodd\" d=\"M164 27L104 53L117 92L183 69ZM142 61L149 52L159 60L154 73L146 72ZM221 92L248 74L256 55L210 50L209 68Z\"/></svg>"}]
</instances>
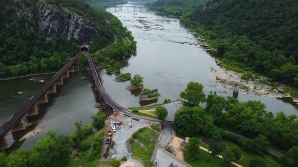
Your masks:
<instances>
[{"instance_id":1,"label":"wide grey river flowing through the valley and under the bridges","mask_svg":"<svg viewBox=\"0 0 298 167\"><path fill-rule=\"evenodd\" d=\"M142 4L126 4L136 5ZM140 74L144 77L145 88L159 90L162 97L151 104L162 103L164 99L178 99L189 81L201 82L207 95L216 91L225 97L232 96L231 90L217 84L211 76L211 67L219 68L215 58L203 48L188 44L197 42L197 39L191 31L179 25L179 20L157 16L153 12L146 12L144 9L140 11L137 8L135 11L133 8L127 10L127 7L123 7L122 11L120 8L107 11L117 16L137 41L137 53L121 61L121 72ZM129 81L116 82L113 80L116 74L107 75L104 74L105 71L106 69L100 69L103 84L114 101L124 107L149 104L139 103L140 92L129 92L125 89ZM34 76L34 79L46 81L52 76L53 74ZM30 81L30 78L32 77L0 81L0 124L24 105L44 84ZM75 121L91 124L90 117L97 109L93 108L96 94L88 87L89 82L88 70L71 73L70 78L64 79L65 84L57 87L58 93L48 96L49 103L38 106L40 114L26 120L32 123L30 128L18 134L21 137L28 131L42 126L46 126L46 129L37 136L15 142L12 148L29 148L38 139L46 136L48 130L54 130L57 134L72 133L75 130ZM223 93L224 90L228 93ZM241 93L238 100L260 100L266 104L267 110L273 113L283 111L287 115L298 115L297 106L286 100ZM8 136L8 139L13 142L12 136Z\"/></svg>"}]
</instances>

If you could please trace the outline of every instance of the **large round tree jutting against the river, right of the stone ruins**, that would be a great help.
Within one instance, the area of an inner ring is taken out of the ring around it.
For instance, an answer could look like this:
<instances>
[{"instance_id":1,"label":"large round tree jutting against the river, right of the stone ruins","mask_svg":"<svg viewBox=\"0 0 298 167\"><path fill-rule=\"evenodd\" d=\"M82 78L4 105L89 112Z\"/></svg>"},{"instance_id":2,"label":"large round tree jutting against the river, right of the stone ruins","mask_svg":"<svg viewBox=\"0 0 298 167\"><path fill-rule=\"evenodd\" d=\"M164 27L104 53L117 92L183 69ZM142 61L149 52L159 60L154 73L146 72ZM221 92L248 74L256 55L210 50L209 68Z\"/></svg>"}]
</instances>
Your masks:
<instances>
[{"instance_id":1,"label":"large round tree jutting against the river, right of the stone ruins","mask_svg":"<svg viewBox=\"0 0 298 167\"><path fill-rule=\"evenodd\" d=\"M205 93L203 92L203 85L198 82L189 82L184 92L180 93L182 99L186 99L190 104L194 106L200 105L201 102L205 102Z\"/></svg>"}]
</instances>

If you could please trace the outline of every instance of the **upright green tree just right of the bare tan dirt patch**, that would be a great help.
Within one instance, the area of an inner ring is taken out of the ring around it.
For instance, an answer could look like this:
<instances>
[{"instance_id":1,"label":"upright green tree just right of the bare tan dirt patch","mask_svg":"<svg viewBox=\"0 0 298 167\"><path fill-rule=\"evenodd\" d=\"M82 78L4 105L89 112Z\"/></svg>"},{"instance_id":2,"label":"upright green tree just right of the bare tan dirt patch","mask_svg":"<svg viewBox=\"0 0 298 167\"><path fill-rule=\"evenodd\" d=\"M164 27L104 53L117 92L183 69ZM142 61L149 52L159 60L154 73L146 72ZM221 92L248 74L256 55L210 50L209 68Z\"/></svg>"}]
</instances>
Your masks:
<instances>
[{"instance_id":1,"label":"upright green tree just right of the bare tan dirt patch","mask_svg":"<svg viewBox=\"0 0 298 167\"><path fill-rule=\"evenodd\" d=\"M195 137L189 138L184 152L189 160L197 160L200 157L200 140Z\"/></svg>"}]
</instances>

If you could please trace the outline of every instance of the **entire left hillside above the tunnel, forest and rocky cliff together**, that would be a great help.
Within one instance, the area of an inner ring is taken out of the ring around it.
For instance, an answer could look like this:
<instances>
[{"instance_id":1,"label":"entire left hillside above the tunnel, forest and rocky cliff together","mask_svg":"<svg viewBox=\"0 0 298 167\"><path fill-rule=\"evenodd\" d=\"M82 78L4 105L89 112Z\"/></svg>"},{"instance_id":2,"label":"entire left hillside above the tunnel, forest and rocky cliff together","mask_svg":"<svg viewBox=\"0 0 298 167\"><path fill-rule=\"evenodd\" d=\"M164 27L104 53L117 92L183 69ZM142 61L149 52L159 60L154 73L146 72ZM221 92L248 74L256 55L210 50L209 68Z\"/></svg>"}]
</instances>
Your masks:
<instances>
[{"instance_id":1,"label":"entire left hillside above the tunnel, forest and rocky cliff together","mask_svg":"<svg viewBox=\"0 0 298 167\"><path fill-rule=\"evenodd\" d=\"M58 71L79 45L90 43L98 49L114 41L112 15L83 0L2 4L0 77Z\"/></svg>"}]
</instances>

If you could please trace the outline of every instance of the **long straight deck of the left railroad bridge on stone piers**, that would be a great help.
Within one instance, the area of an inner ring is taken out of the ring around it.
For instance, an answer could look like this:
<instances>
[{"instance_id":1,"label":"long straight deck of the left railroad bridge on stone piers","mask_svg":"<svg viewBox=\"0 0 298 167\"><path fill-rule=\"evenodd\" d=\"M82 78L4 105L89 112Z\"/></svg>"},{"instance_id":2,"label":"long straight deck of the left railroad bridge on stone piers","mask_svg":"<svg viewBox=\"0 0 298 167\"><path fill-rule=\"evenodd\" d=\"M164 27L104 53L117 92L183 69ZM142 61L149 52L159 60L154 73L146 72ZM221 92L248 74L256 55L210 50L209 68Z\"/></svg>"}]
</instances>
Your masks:
<instances>
[{"instance_id":1,"label":"long straight deck of the left railroad bridge on stone piers","mask_svg":"<svg viewBox=\"0 0 298 167\"><path fill-rule=\"evenodd\" d=\"M60 71L58 71L51 80L47 82L34 96L26 102L26 104L20 108L12 117L10 117L4 124L0 127L0 138L4 138L6 134L14 127L16 123L18 123L26 114L26 112L38 101L40 97L42 97L46 91L55 84L58 78L62 77L62 75L77 61L79 57L78 53L75 57L73 57Z\"/></svg>"}]
</instances>

